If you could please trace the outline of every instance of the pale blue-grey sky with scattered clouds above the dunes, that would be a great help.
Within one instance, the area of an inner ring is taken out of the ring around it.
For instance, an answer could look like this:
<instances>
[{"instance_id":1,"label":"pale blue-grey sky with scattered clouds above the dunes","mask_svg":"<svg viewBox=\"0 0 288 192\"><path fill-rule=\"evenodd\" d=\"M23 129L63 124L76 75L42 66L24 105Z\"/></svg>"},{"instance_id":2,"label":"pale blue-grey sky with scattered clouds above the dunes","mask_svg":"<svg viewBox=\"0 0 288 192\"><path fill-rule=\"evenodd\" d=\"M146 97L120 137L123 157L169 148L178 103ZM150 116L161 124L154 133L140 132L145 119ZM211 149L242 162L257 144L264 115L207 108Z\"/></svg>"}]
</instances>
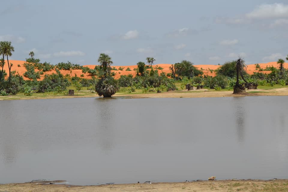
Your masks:
<instances>
[{"instance_id":1,"label":"pale blue-grey sky with scattered clouds above the dunes","mask_svg":"<svg viewBox=\"0 0 288 192\"><path fill-rule=\"evenodd\" d=\"M223 64L241 55L246 64L286 58L287 0L10 0L0 4L0 41L10 59L29 52L51 64L113 65L188 60Z\"/></svg>"}]
</instances>

